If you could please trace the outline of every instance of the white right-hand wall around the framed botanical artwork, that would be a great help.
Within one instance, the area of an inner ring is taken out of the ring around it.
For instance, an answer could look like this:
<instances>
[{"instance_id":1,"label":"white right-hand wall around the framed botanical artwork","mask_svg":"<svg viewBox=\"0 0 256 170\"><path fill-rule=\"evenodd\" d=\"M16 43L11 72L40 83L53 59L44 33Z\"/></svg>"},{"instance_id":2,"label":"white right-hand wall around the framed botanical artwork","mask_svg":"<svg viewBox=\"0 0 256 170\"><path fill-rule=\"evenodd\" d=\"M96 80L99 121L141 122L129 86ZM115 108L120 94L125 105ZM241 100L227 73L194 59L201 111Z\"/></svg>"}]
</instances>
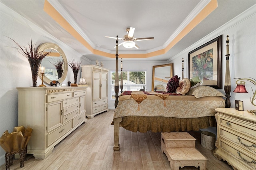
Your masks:
<instances>
[{"instance_id":1,"label":"white right-hand wall around the framed botanical artwork","mask_svg":"<svg viewBox=\"0 0 256 170\"><path fill-rule=\"evenodd\" d=\"M202 40L194 43L190 47L172 58L171 63L174 63L174 75L182 74L182 57L184 57L184 77L188 77L188 53L200 45L222 35L222 86L220 91L225 94L224 82L226 73L226 36L229 36L229 63L230 63L230 77L231 88L230 102L231 107L235 107L235 100L244 101L244 110L256 109L250 103L253 93L256 91L256 86L246 81L246 89L249 93L233 93L236 88L236 77L256 79L256 6L252 6L230 22L224 24ZM251 89L252 87L252 89ZM256 100L254 101L256 104Z\"/></svg>"}]
</instances>

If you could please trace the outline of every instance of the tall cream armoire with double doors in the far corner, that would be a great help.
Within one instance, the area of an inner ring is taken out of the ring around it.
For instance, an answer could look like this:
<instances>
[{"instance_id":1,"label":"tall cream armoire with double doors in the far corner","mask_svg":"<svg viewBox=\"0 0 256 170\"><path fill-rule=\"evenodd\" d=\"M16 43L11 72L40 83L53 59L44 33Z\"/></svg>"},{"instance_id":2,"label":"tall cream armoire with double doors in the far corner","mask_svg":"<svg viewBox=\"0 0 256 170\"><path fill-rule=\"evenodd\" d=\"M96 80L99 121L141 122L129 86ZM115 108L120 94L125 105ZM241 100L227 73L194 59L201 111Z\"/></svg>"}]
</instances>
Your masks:
<instances>
[{"instance_id":1,"label":"tall cream armoire with double doors in the far corner","mask_svg":"<svg viewBox=\"0 0 256 170\"><path fill-rule=\"evenodd\" d=\"M108 71L96 65L82 65L82 77L88 85L86 116L89 119L108 111Z\"/></svg>"}]
</instances>

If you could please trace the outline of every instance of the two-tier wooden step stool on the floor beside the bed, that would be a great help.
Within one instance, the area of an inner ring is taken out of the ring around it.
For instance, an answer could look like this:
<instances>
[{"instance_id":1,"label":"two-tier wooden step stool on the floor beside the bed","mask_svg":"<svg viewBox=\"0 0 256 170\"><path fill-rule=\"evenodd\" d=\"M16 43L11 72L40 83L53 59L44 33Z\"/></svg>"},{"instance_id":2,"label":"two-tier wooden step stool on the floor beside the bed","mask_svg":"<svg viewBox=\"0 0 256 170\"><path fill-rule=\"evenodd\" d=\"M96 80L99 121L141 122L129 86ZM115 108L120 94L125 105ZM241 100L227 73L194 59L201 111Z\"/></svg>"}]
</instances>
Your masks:
<instances>
[{"instance_id":1,"label":"two-tier wooden step stool on the floor beside the bed","mask_svg":"<svg viewBox=\"0 0 256 170\"><path fill-rule=\"evenodd\" d=\"M206 170L207 159L196 150L196 139L188 132L162 132L161 136L161 149L172 170L184 166L200 166L200 170Z\"/></svg>"}]
</instances>

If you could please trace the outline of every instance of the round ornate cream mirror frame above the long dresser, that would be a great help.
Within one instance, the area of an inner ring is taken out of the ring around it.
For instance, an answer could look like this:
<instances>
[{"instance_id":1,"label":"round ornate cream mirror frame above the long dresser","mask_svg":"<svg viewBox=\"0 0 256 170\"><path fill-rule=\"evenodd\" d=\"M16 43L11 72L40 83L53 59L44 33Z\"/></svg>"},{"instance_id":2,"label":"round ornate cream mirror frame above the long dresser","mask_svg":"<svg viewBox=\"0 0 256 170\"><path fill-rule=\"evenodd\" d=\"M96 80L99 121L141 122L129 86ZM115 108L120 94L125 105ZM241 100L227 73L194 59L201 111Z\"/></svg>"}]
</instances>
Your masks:
<instances>
[{"instance_id":1,"label":"round ornate cream mirror frame above the long dresser","mask_svg":"<svg viewBox=\"0 0 256 170\"><path fill-rule=\"evenodd\" d=\"M38 47L38 50L39 51L45 51L45 50L56 50L58 51L58 53L60 53L64 63L64 70L63 70L63 73L62 73L62 77L60 77L60 79L57 79L57 81L59 81L60 83L62 83L65 79L66 79L66 76L67 76L67 73L68 73L68 60L66 58L66 55L65 53L62 51L62 49L55 43L42 43L41 45L39 45ZM44 60L44 59L43 59ZM43 65L42 65L43 66ZM62 66L63 67L63 66ZM40 74L40 71L38 71L38 76L40 77L40 79L42 79L42 76ZM48 77L44 76L44 82L49 84L50 85L50 82L52 81L51 79L49 79Z\"/></svg>"}]
</instances>

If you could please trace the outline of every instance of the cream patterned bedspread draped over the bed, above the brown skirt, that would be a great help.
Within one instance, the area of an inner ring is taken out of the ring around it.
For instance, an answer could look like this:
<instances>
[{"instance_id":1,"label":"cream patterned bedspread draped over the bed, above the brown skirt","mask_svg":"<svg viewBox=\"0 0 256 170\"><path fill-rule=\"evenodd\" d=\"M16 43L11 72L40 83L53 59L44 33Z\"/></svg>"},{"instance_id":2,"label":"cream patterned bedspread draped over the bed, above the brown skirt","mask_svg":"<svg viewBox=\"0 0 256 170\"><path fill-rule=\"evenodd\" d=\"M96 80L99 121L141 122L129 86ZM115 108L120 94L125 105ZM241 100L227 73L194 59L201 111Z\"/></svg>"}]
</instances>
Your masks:
<instances>
[{"instance_id":1,"label":"cream patterned bedspread draped over the bed, above the brown skirt","mask_svg":"<svg viewBox=\"0 0 256 170\"><path fill-rule=\"evenodd\" d=\"M225 107L225 100L222 97L195 98L192 95L166 95L156 92L146 95L142 93L134 93L137 97L134 97L132 93L120 95L114 119L125 116L206 117L214 116L216 108Z\"/></svg>"}]
</instances>

